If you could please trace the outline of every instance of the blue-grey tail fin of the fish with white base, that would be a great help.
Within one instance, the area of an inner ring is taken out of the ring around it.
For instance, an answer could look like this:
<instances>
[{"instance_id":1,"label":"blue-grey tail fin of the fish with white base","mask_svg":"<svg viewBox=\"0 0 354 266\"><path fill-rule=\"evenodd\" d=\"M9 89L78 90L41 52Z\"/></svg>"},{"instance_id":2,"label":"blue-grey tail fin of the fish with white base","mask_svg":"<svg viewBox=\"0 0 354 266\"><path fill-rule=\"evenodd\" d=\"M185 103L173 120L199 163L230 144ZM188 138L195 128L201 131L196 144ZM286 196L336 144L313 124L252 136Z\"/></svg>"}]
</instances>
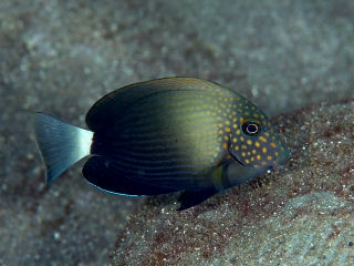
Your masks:
<instances>
[{"instance_id":1,"label":"blue-grey tail fin of the fish with white base","mask_svg":"<svg viewBox=\"0 0 354 266\"><path fill-rule=\"evenodd\" d=\"M46 184L71 165L90 155L92 131L64 123L40 112L35 113L34 131L46 167Z\"/></svg>"}]
</instances>

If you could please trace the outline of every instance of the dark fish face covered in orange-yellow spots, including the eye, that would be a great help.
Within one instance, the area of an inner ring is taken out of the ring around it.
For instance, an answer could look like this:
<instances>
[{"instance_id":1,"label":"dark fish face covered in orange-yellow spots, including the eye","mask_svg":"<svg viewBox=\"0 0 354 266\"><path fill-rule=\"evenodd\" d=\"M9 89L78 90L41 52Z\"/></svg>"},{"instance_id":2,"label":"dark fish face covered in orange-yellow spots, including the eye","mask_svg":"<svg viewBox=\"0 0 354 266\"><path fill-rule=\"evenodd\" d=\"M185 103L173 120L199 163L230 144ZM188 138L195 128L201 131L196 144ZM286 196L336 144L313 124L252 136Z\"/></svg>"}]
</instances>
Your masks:
<instances>
[{"instance_id":1,"label":"dark fish face covered in orange-yellow spots, including the eye","mask_svg":"<svg viewBox=\"0 0 354 266\"><path fill-rule=\"evenodd\" d=\"M266 114L248 100L238 104L239 119L229 140L230 154L250 167L274 166L289 157L289 152Z\"/></svg>"}]
</instances>

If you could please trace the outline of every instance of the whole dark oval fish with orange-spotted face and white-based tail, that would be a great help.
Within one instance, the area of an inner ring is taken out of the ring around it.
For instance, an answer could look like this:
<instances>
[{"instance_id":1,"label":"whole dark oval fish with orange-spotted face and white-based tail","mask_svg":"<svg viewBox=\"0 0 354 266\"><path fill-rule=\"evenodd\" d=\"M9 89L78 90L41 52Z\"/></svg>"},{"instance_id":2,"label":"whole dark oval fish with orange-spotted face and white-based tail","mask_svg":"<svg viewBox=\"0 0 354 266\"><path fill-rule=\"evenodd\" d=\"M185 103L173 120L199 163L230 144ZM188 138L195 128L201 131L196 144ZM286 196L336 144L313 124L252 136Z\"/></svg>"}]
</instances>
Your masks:
<instances>
[{"instance_id":1,"label":"whole dark oval fish with orange-spotted face and white-based tail","mask_svg":"<svg viewBox=\"0 0 354 266\"><path fill-rule=\"evenodd\" d=\"M125 196L181 192L179 211L282 164L290 153L248 99L196 78L117 89L88 110L82 129L37 112L34 132L51 184L86 158L92 185Z\"/></svg>"}]
</instances>

